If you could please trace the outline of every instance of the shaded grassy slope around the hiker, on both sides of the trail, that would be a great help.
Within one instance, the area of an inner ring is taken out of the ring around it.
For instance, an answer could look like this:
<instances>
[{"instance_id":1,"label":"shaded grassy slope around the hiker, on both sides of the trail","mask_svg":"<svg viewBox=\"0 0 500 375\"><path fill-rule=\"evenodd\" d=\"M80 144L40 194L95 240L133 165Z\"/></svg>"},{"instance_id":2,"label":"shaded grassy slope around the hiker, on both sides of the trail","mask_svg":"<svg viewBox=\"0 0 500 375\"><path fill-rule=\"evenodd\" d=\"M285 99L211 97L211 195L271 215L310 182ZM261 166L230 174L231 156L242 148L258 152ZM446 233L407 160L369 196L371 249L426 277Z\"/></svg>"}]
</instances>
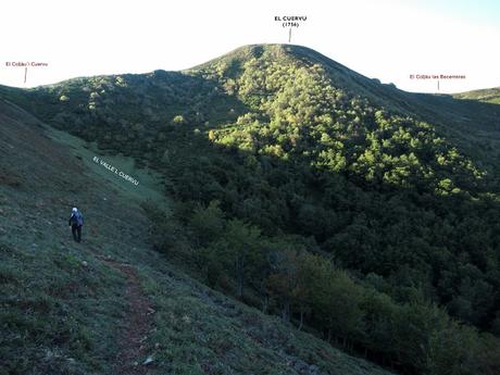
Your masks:
<instances>
[{"instance_id":1,"label":"shaded grassy slope around the hiker, on both sides of the trail","mask_svg":"<svg viewBox=\"0 0 500 375\"><path fill-rule=\"evenodd\" d=\"M139 197L167 207L157 176L105 157L132 170L135 190L93 164L91 145L3 101L0 124L0 374L113 373L126 284L97 255L134 264L141 277L155 310L150 374L387 373L208 289L152 251ZM79 245L67 227L73 205L86 217Z\"/></svg>"}]
</instances>

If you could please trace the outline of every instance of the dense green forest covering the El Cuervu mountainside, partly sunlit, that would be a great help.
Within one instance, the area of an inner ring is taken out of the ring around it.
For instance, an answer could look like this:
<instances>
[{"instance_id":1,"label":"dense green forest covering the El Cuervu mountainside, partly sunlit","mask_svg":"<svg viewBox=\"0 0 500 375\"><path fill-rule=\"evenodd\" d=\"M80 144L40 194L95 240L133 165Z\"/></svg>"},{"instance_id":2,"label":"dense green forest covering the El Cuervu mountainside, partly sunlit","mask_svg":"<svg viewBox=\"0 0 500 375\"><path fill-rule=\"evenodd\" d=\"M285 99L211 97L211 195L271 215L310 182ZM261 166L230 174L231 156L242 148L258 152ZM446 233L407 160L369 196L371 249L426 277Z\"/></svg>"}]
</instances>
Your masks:
<instances>
[{"instance_id":1,"label":"dense green forest covering the El Cuervu mountainside, partly sunlit","mask_svg":"<svg viewBox=\"0 0 500 375\"><path fill-rule=\"evenodd\" d=\"M212 287L402 373L500 371L498 155L445 99L283 46L2 93L162 172L152 243Z\"/></svg>"}]
</instances>

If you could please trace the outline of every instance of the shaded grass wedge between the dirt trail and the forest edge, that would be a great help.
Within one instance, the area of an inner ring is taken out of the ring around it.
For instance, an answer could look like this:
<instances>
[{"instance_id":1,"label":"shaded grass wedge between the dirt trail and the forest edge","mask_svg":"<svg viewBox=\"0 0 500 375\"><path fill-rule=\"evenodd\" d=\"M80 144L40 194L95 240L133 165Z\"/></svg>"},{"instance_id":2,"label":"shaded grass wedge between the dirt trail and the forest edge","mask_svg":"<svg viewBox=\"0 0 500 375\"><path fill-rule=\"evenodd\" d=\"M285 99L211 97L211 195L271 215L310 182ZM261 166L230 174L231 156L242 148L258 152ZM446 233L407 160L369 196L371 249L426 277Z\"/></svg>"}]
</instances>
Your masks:
<instances>
[{"instance_id":1,"label":"shaded grass wedge between the dirt trail and the forest edge","mask_svg":"<svg viewBox=\"0 0 500 375\"><path fill-rule=\"evenodd\" d=\"M167 374L386 374L175 270L141 275L157 311L151 355Z\"/></svg>"}]
</instances>

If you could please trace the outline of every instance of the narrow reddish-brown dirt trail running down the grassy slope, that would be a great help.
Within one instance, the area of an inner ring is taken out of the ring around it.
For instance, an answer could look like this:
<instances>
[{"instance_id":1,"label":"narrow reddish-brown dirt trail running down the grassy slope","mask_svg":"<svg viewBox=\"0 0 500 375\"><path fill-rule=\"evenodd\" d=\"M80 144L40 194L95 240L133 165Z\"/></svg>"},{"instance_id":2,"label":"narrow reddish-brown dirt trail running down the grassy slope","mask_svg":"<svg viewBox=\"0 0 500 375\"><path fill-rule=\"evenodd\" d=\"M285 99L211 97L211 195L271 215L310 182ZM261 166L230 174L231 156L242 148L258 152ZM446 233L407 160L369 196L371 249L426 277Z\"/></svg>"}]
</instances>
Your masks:
<instances>
[{"instance_id":1,"label":"narrow reddish-brown dirt trail running down the grassy slope","mask_svg":"<svg viewBox=\"0 0 500 375\"><path fill-rule=\"evenodd\" d=\"M132 265L99 258L127 278L125 299L129 309L124 317L125 328L120 335L115 372L120 375L146 375L149 371L148 365L143 364L147 359L145 347L153 326L154 310L142 291L137 271Z\"/></svg>"}]
</instances>

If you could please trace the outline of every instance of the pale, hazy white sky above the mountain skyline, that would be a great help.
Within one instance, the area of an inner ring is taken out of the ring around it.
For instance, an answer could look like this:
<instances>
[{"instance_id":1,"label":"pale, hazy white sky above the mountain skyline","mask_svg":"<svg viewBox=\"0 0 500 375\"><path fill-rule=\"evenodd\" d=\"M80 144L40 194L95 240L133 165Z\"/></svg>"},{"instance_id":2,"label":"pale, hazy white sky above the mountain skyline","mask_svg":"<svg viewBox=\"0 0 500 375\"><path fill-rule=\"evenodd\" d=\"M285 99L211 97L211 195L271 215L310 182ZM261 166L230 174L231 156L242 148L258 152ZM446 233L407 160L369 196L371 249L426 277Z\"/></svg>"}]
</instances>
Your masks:
<instances>
[{"instance_id":1,"label":"pale, hazy white sky above the mountain skyline","mask_svg":"<svg viewBox=\"0 0 500 375\"><path fill-rule=\"evenodd\" d=\"M182 70L237 47L288 42L276 15L305 15L292 43L410 91L500 86L500 0L24 0L0 3L0 84ZM48 66L7 66L40 62Z\"/></svg>"}]
</instances>

